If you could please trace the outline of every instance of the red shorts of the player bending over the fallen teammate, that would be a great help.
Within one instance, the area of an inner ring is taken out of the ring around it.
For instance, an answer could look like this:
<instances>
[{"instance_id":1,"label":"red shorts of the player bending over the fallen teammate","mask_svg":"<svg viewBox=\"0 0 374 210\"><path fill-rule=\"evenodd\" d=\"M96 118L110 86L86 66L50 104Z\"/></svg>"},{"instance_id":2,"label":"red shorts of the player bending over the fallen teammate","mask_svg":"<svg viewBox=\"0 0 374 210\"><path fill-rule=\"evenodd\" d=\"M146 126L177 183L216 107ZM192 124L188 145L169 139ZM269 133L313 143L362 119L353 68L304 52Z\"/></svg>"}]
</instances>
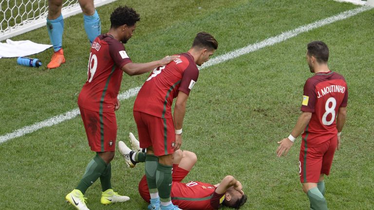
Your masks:
<instances>
[{"instance_id":1,"label":"red shorts of the player bending over the fallen teammate","mask_svg":"<svg viewBox=\"0 0 374 210\"><path fill-rule=\"evenodd\" d=\"M155 156L174 153L175 128L173 119L155 117L134 111L141 148L153 147Z\"/></svg>"}]
</instances>

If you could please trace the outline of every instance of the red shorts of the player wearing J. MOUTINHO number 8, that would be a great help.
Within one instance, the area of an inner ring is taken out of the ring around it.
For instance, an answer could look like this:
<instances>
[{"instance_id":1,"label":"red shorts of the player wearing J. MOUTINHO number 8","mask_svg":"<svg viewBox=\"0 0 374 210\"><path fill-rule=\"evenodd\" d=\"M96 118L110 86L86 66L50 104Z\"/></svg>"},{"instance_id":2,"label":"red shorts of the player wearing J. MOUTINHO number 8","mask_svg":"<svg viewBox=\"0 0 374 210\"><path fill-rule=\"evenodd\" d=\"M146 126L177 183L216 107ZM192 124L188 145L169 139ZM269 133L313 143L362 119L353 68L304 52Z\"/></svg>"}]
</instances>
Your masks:
<instances>
[{"instance_id":1,"label":"red shorts of the player wearing J. MOUTINHO number 8","mask_svg":"<svg viewBox=\"0 0 374 210\"><path fill-rule=\"evenodd\" d=\"M329 175L335 150L337 136L317 146L305 148L302 140L299 155L300 182L318 183L321 174Z\"/></svg>"}]
</instances>

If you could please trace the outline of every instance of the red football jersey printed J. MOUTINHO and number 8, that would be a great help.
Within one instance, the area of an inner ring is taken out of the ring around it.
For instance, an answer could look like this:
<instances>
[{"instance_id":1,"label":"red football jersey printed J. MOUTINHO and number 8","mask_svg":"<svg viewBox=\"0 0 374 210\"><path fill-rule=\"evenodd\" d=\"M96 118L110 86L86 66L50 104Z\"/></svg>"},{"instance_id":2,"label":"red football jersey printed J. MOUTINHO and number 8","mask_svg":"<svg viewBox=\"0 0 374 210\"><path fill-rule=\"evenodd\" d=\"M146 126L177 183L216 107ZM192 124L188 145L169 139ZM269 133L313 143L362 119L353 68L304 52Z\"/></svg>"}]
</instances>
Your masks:
<instances>
[{"instance_id":1,"label":"red football jersey printed J. MOUTINHO and number 8","mask_svg":"<svg viewBox=\"0 0 374 210\"><path fill-rule=\"evenodd\" d=\"M302 134L307 147L317 146L337 135L336 118L339 107L346 107L347 83L336 72L320 72L304 85L301 111L312 112L312 118Z\"/></svg>"}]
</instances>

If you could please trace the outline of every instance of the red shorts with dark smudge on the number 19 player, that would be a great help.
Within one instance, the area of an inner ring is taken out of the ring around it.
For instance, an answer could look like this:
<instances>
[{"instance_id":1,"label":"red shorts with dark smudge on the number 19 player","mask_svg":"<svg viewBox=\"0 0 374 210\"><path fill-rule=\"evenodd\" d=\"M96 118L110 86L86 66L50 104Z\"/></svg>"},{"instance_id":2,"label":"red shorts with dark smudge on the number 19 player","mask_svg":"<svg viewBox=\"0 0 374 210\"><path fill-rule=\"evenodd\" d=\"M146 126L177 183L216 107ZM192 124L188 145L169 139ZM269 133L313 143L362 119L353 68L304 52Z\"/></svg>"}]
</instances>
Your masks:
<instances>
[{"instance_id":1,"label":"red shorts with dark smudge on the number 19 player","mask_svg":"<svg viewBox=\"0 0 374 210\"><path fill-rule=\"evenodd\" d=\"M114 111L100 114L81 106L79 110L91 150L94 152L115 151L117 121Z\"/></svg>"}]
</instances>

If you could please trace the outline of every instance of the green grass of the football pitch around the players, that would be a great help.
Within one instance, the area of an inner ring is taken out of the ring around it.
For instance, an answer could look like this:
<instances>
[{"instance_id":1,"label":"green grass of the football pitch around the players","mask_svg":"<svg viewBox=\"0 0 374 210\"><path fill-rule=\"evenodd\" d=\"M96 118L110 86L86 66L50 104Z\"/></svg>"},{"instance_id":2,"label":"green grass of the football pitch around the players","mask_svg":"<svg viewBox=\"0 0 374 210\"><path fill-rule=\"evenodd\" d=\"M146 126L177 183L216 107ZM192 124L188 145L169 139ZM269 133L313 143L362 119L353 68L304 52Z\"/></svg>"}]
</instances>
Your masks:
<instances>
[{"instance_id":1,"label":"green grass of the football pitch around the players","mask_svg":"<svg viewBox=\"0 0 374 210\"><path fill-rule=\"evenodd\" d=\"M102 33L109 28L112 10L122 4L119 0L97 8ZM217 38L215 57L357 7L327 0L131 0L126 4L141 15L126 44L134 62L185 52L200 31ZM330 69L345 76L349 89L342 147L326 178L328 207L373 209L373 16L374 10L362 12L201 70L187 102L182 144L182 149L197 154L198 162L185 181L215 184L225 175L234 175L248 195L245 210L308 209L299 183L300 138L287 157L276 157L275 150L276 142L287 137L296 123L304 82L312 76L305 60L306 44L322 40L330 48ZM82 15L64 21L67 62L61 68L27 68L18 66L16 59L0 59L0 135L77 107L78 93L87 79L89 43ZM25 39L49 43L45 28L13 38ZM51 54L49 49L31 57L42 60L45 67ZM141 86L147 75L124 74L120 92ZM136 134L134 99L121 101L116 112L117 141L127 143L128 133ZM0 151L0 209L4 210L73 210L64 197L94 156L79 116L8 140L0 144ZM98 180L86 192L87 206L146 209L137 192L143 173L143 164L126 168L116 150L112 186L131 200L102 206Z\"/></svg>"}]
</instances>

